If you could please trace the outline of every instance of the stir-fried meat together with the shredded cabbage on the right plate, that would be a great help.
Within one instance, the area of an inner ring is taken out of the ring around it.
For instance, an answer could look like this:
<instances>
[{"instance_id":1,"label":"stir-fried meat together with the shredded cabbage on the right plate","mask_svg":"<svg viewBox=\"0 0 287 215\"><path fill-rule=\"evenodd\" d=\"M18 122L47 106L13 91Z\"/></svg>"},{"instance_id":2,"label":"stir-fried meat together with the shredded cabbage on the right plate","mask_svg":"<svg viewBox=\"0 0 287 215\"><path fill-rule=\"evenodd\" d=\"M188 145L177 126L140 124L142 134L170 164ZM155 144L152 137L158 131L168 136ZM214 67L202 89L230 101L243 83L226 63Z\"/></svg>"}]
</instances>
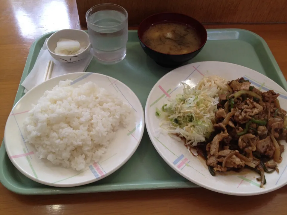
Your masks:
<instances>
[{"instance_id":1,"label":"stir-fried meat together with the shredded cabbage on the right plate","mask_svg":"<svg viewBox=\"0 0 287 215\"><path fill-rule=\"evenodd\" d=\"M243 78L228 82L219 76L204 76L170 104L156 109L161 126L191 153L196 148L205 158L210 173L242 171L259 174L260 187L265 173L279 173L287 136L286 110L280 107L278 93L261 92Z\"/></svg>"}]
</instances>

